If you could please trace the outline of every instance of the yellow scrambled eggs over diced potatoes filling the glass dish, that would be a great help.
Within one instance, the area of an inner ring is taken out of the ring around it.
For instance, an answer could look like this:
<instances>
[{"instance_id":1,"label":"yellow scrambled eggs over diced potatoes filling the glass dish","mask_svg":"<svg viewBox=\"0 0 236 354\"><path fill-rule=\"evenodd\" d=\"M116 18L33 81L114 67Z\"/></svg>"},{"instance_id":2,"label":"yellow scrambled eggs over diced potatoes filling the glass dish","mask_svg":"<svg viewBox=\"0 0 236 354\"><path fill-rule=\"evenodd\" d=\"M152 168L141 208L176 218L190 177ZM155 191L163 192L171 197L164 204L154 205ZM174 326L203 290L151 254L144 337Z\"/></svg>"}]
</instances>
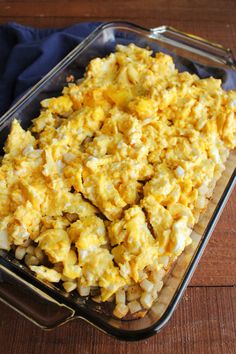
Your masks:
<instances>
[{"instance_id":1,"label":"yellow scrambled eggs over diced potatoes filling the glass dish","mask_svg":"<svg viewBox=\"0 0 236 354\"><path fill-rule=\"evenodd\" d=\"M0 248L67 292L151 307L191 243L236 142L236 92L118 45L85 77L14 120L0 167Z\"/></svg>"}]
</instances>

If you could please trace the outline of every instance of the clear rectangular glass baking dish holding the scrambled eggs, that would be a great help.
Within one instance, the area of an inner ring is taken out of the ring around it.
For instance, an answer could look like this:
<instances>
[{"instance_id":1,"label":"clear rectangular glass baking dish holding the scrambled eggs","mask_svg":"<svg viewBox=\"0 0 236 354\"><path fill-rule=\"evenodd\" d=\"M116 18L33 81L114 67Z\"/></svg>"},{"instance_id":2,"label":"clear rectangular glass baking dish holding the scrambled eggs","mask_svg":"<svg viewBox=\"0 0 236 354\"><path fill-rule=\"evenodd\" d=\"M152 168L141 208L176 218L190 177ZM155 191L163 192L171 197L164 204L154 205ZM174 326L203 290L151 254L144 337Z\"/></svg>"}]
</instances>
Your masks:
<instances>
[{"instance_id":1,"label":"clear rectangular glass baking dish holding the scrambled eggs","mask_svg":"<svg viewBox=\"0 0 236 354\"><path fill-rule=\"evenodd\" d=\"M40 101L58 95L68 75L83 76L88 62L114 51L116 44L135 43L182 58L184 63L207 65L211 75L236 74L236 62L229 49L166 26L146 29L127 22L99 26L39 83L24 95L0 119L1 148L13 118L24 128L37 116ZM195 65L195 64L194 64ZM229 71L228 71L229 70ZM233 88L233 87L231 87ZM236 89L236 81L235 87ZM112 304L97 304L76 294L66 294L59 287L37 280L11 253L0 252L0 298L44 329L81 318L103 332L124 340L139 340L158 332L170 319L201 258L207 242L232 191L235 181L236 153L232 151L226 169L216 184L208 208L192 231L188 246L171 269L160 296L147 315L136 320L119 320L112 316Z\"/></svg>"}]
</instances>

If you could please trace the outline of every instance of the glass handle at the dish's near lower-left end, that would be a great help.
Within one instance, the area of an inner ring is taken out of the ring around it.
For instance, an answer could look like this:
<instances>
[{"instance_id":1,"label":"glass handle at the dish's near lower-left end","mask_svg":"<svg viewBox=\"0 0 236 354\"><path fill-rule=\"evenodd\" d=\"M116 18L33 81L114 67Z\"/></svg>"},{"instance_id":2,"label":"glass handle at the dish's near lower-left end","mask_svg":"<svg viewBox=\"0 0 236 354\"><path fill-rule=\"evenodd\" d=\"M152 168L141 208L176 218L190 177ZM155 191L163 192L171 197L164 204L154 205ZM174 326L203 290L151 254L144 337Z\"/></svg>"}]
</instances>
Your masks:
<instances>
[{"instance_id":1,"label":"glass handle at the dish's near lower-left end","mask_svg":"<svg viewBox=\"0 0 236 354\"><path fill-rule=\"evenodd\" d=\"M0 301L41 328L57 327L74 318L74 311L27 283L0 264Z\"/></svg>"}]
</instances>

